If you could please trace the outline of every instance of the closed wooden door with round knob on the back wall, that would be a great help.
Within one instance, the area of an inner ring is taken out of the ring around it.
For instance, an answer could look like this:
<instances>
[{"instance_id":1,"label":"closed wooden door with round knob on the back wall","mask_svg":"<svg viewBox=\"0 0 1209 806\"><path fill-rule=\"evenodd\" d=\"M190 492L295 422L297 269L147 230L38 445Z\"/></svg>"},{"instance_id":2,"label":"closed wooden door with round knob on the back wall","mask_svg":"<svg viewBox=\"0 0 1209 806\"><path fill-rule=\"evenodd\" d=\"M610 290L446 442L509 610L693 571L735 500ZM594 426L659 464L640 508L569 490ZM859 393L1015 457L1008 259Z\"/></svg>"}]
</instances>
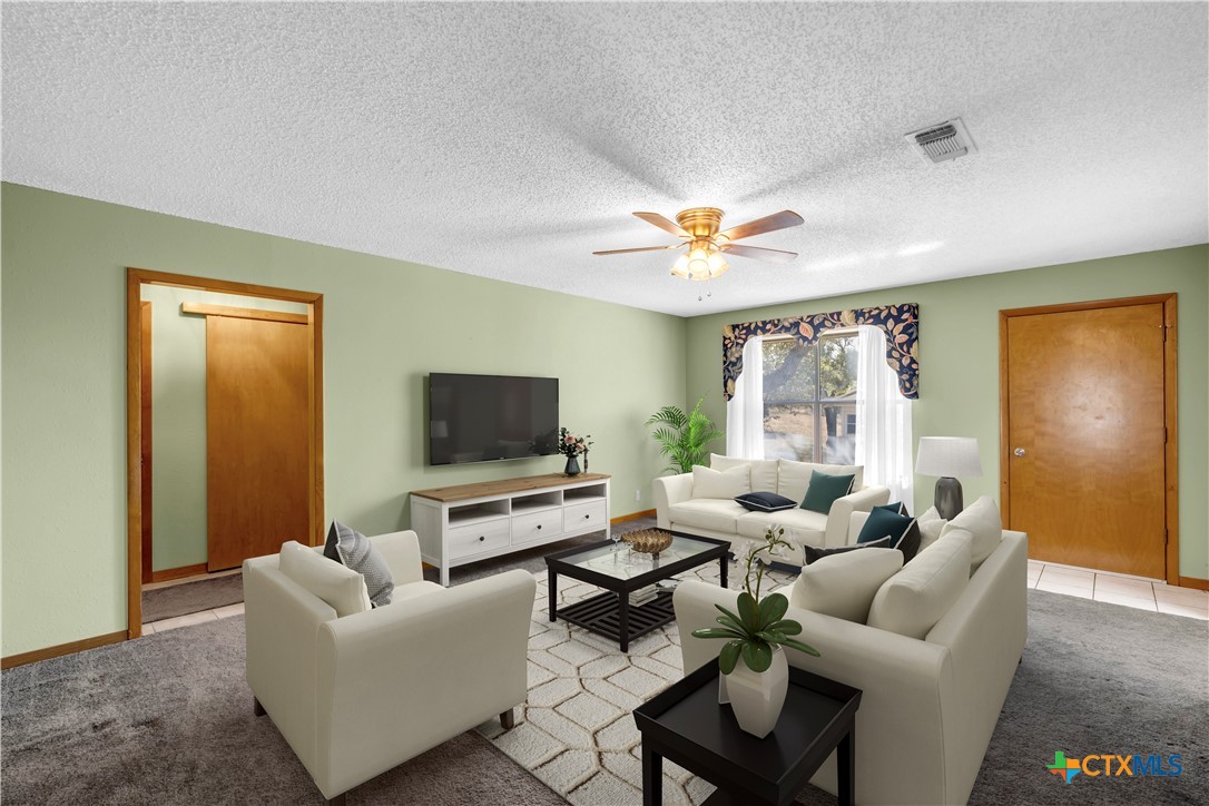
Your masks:
<instances>
[{"instance_id":1,"label":"closed wooden door with round knob on the back wall","mask_svg":"<svg viewBox=\"0 0 1209 806\"><path fill-rule=\"evenodd\" d=\"M1035 559L1163 579L1163 305L1012 315L1005 338L1010 528Z\"/></svg>"}]
</instances>

